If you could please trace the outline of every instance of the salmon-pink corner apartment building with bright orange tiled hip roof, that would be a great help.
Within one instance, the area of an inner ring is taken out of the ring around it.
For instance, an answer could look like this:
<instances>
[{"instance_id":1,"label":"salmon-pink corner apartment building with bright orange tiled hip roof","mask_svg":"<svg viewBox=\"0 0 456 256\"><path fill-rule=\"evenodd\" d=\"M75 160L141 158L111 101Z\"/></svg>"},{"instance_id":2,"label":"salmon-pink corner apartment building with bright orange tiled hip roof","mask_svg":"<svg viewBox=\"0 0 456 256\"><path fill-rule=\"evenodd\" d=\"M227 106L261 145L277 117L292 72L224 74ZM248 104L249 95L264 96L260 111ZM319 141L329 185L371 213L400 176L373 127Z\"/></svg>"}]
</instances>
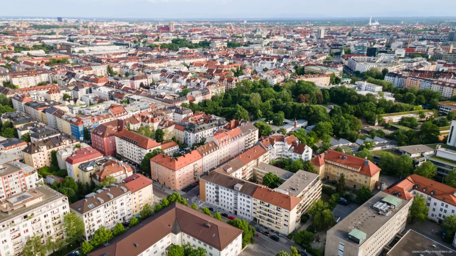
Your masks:
<instances>
[{"instance_id":1,"label":"salmon-pink corner apartment building with bright orange tiled hip roof","mask_svg":"<svg viewBox=\"0 0 456 256\"><path fill-rule=\"evenodd\" d=\"M151 158L152 179L173 190L180 190L203 174L203 157L196 150L177 158L158 154Z\"/></svg>"}]
</instances>

